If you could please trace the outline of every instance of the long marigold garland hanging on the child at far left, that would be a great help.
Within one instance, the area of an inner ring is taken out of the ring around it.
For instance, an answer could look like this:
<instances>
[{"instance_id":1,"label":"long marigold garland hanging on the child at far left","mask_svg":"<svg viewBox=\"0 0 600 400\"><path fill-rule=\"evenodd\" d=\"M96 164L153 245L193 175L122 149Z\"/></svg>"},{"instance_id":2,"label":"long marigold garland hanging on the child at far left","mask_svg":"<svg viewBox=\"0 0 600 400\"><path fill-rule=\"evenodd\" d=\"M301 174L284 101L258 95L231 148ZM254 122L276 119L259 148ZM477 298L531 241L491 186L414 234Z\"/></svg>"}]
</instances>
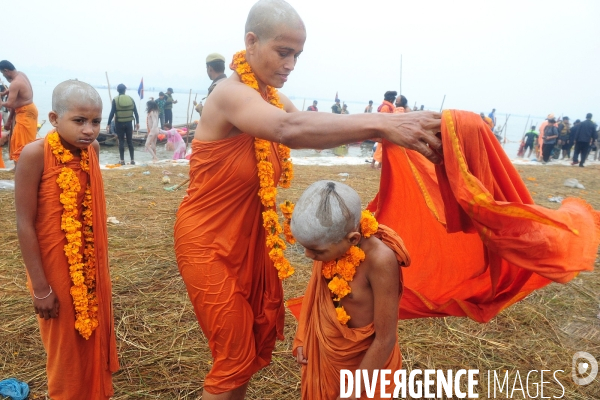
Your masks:
<instances>
[{"instance_id":1,"label":"long marigold garland hanging on the child at far left","mask_svg":"<svg viewBox=\"0 0 600 400\"><path fill-rule=\"evenodd\" d=\"M59 163L66 164L73 159L73 154L62 145L58 132L48 135L48 143L52 149L52 154ZM89 175L88 150L81 150L80 165L81 169ZM79 221L77 209L77 194L81 190L77 174L71 168L63 166L56 183L62 189L60 202L63 205L63 213L60 228L65 232L67 239L64 252L69 262L69 276L73 284L70 293L75 308L75 329L85 339L89 339L94 329L98 327L92 190L88 182L82 202L82 224ZM82 255L80 249L84 244Z\"/></svg>"}]
</instances>

